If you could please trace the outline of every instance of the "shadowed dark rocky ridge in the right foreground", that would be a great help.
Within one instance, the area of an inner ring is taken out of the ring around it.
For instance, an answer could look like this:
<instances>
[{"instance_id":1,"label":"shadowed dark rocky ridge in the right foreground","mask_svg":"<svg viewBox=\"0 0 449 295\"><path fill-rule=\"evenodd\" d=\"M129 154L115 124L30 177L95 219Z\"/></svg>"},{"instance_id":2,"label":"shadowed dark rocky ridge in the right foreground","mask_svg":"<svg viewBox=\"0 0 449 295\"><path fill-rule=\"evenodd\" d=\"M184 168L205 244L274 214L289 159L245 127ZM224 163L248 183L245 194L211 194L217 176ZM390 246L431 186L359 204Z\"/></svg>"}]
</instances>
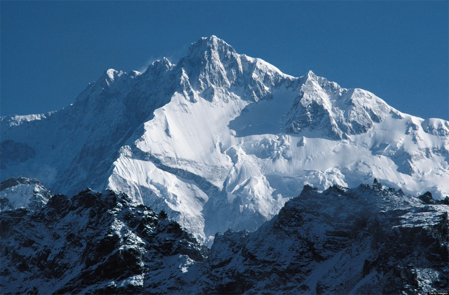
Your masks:
<instances>
[{"instance_id":1,"label":"shadowed dark rocky ridge in the right foreground","mask_svg":"<svg viewBox=\"0 0 449 295\"><path fill-rule=\"evenodd\" d=\"M257 231L217 234L207 294L426 294L448 289L448 206L394 189L305 186Z\"/></svg>"}]
</instances>

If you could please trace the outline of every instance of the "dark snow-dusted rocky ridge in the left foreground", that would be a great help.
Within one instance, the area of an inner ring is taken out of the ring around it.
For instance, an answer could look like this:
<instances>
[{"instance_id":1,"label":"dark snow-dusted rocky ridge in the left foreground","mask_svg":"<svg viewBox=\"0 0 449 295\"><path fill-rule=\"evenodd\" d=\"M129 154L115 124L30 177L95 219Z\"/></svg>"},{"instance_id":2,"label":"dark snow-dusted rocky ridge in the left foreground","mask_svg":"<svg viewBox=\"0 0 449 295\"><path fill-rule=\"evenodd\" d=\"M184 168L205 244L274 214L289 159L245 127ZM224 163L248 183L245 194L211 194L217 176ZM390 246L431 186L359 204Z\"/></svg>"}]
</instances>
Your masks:
<instances>
[{"instance_id":1,"label":"dark snow-dusted rocky ridge in the left foreground","mask_svg":"<svg viewBox=\"0 0 449 295\"><path fill-rule=\"evenodd\" d=\"M207 255L178 223L125 194L55 195L1 214L2 294L186 293Z\"/></svg>"}]
</instances>

